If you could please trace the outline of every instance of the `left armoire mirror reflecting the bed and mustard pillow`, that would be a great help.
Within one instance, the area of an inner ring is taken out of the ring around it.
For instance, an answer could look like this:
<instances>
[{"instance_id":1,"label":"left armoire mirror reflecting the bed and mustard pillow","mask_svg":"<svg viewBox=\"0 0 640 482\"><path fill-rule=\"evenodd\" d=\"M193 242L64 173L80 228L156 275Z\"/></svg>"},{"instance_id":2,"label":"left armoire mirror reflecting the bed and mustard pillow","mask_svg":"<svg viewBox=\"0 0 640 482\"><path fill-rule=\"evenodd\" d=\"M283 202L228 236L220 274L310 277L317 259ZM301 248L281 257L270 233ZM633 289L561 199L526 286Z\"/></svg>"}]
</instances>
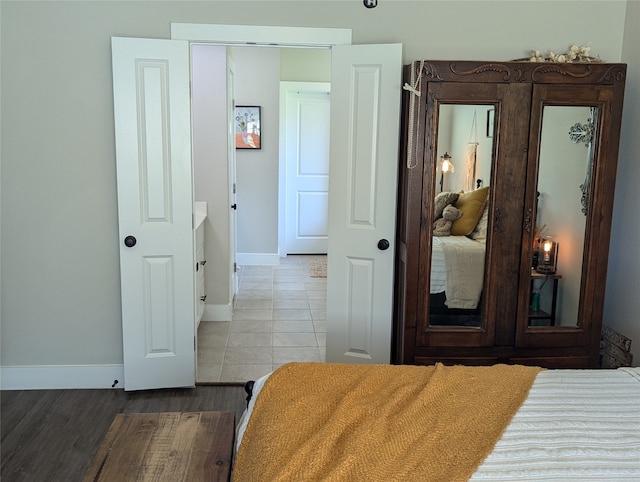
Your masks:
<instances>
[{"instance_id":1,"label":"left armoire mirror reflecting the bed and mustard pillow","mask_svg":"<svg viewBox=\"0 0 640 482\"><path fill-rule=\"evenodd\" d=\"M429 324L481 326L485 247L489 222L489 185L493 153L494 105L441 104L434 224L452 205L461 217L450 235L433 232ZM450 157L449 157L450 156Z\"/></svg>"}]
</instances>

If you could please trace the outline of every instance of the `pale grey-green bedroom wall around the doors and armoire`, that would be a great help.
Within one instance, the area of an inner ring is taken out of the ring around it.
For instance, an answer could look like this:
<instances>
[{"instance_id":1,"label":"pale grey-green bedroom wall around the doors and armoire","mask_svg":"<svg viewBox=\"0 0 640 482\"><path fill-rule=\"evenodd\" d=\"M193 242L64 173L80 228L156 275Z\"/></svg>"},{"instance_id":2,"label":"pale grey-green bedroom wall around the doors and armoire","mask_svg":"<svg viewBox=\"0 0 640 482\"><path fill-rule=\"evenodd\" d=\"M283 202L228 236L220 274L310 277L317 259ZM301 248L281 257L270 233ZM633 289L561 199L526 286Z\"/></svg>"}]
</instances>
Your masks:
<instances>
[{"instance_id":1,"label":"pale grey-green bedroom wall around the doors and armoire","mask_svg":"<svg viewBox=\"0 0 640 482\"><path fill-rule=\"evenodd\" d=\"M635 19L627 18L623 48L627 8ZM637 201L639 178L637 2L381 1L366 9L361 0L3 1L0 9L3 367L122 364L110 37L169 38L171 22L351 28L354 43L403 43L405 63L509 60L532 48L585 42L608 61L624 55L632 85L614 248L635 255L637 264L639 223L625 209ZM271 107L264 116L265 134L277 130ZM277 145L277 137L265 139L262 153ZM274 163L257 163L254 172L276 176ZM275 219L275 213L265 216ZM269 249L276 249L275 238ZM611 317L637 313L612 308L637 308L627 287L639 284L640 270L630 269L628 260L618 263L612 259L608 296L617 294L608 300L609 324L618 323ZM628 318L626 331L635 333L638 346L639 322Z\"/></svg>"}]
</instances>

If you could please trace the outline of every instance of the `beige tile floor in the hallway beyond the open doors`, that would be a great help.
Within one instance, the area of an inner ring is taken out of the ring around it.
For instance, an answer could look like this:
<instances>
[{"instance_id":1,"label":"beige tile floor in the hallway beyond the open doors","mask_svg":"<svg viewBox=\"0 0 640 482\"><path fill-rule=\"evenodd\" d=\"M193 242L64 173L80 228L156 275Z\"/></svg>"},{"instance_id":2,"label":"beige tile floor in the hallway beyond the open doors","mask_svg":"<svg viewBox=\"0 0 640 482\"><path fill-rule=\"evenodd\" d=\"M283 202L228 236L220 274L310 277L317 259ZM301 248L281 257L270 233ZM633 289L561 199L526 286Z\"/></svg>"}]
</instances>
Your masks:
<instances>
[{"instance_id":1,"label":"beige tile floor in the hallway beyond the open doors","mask_svg":"<svg viewBox=\"0 0 640 482\"><path fill-rule=\"evenodd\" d=\"M232 321L198 328L198 382L246 382L290 361L325 361L326 278L309 276L321 255L240 266Z\"/></svg>"}]
</instances>

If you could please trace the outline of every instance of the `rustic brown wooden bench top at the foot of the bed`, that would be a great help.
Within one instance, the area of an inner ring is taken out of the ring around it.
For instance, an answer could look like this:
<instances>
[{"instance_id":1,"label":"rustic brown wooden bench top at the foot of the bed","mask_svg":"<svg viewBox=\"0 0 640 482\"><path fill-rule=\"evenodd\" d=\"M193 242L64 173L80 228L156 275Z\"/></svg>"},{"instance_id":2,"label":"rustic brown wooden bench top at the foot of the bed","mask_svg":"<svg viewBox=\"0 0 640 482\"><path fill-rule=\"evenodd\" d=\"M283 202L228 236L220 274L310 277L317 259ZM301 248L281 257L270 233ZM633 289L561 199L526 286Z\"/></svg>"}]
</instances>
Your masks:
<instances>
[{"instance_id":1,"label":"rustic brown wooden bench top at the foot of the bed","mask_svg":"<svg viewBox=\"0 0 640 482\"><path fill-rule=\"evenodd\" d=\"M84 481L228 481L233 412L116 415Z\"/></svg>"}]
</instances>

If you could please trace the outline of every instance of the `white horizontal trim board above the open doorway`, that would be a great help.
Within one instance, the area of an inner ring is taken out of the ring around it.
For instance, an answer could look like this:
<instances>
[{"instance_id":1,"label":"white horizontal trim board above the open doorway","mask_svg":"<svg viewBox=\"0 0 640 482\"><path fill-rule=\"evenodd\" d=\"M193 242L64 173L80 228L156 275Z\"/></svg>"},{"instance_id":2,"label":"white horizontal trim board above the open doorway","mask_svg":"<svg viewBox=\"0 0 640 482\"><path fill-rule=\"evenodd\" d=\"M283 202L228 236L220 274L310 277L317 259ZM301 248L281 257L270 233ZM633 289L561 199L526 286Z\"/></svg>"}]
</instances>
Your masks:
<instances>
[{"instance_id":1,"label":"white horizontal trim board above the open doorway","mask_svg":"<svg viewBox=\"0 0 640 482\"><path fill-rule=\"evenodd\" d=\"M329 48L351 45L352 31L346 28L271 27L172 23L171 39L223 45L288 46Z\"/></svg>"}]
</instances>

